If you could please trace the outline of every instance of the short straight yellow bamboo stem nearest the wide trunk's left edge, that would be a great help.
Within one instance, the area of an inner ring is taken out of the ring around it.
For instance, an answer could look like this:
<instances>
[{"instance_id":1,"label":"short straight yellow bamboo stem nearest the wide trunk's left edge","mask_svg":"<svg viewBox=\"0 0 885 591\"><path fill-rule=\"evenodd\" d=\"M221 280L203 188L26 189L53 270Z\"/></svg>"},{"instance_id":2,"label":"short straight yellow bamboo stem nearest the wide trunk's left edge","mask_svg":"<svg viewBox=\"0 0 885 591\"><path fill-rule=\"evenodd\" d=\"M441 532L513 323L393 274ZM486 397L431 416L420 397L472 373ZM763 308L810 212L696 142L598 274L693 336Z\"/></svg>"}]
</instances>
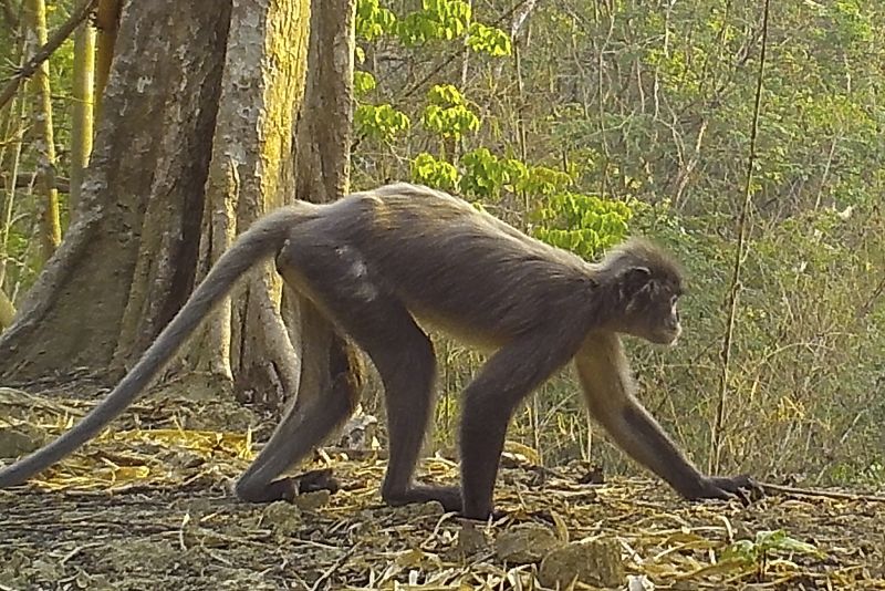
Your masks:
<instances>
[{"instance_id":1,"label":"short straight yellow bamboo stem nearest the wide trunk's left edge","mask_svg":"<svg viewBox=\"0 0 885 591\"><path fill-rule=\"evenodd\" d=\"M95 29L90 22L74 33L74 108L71 122L71 183L67 207L76 219L83 172L92 152L92 84L95 70Z\"/></svg>"}]
</instances>

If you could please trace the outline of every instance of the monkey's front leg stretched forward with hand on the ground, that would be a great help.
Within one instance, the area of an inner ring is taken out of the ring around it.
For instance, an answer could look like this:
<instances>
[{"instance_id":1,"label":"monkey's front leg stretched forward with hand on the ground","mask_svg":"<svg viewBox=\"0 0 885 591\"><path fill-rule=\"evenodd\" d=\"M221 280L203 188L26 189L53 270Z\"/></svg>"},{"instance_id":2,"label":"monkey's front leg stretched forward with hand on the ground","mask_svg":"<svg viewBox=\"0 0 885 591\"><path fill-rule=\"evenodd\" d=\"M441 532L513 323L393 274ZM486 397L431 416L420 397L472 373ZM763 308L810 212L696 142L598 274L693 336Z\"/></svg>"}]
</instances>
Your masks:
<instances>
[{"instance_id":1,"label":"monkey's front leg stretched forward with hand on the ground","mask_svg":"<svg viewBox=\"0 0 885 591\"><path fill-rule=\"evenodd\" d=\"M614 333L587 338L575 356L587 407L615 443L687 499L740 497L757 489L747 475L704 476L633 395L621 339Z\"/></svg>"}]
</instances>

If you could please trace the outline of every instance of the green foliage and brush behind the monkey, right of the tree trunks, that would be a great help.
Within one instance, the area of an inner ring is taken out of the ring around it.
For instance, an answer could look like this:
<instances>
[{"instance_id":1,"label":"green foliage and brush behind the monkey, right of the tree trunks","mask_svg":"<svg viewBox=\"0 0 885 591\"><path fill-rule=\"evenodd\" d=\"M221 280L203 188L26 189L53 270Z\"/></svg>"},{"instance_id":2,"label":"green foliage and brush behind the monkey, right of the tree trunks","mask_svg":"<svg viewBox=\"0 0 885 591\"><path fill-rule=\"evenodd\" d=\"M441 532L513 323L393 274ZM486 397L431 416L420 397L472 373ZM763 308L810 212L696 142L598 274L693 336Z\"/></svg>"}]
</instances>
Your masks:
<instances>
[{"instance_id":1,"label":"green foliage and brush behind the monkey, right of the tree trunks","mask_svg":"<svg viewBox=\"0 0 885 591\"><path fill-rule=\"evenodd\" d=\"M510 35L485 24L509 4L472 3L472 13L446 0L389 6L419 10L398 13L381 40L376 55L391 59L373 61L371 92L421 124L381 149L361 143L356 183L409 175L584 257L627 231L665 243L688 270L687 338L666 353L631 342L631 353L656 416L668 428L678 422L702 460L720 387L759 7L541 3L517 69L493 59L512 52ZM723 469L839 483L881 474L884 18L882 6L860 0L773 7ZM467 377L470 369L450 371ZM533 413L555 416L518 417L517 432L555 423L572 390L563 382L548 393ZM731 427L746 424L759 428ZM574 449L573 439L559 443ZM809 442L825 453L809 456ZM598 446L594 454L613 470L631 466Z\"/></svg>"}]
</instances>

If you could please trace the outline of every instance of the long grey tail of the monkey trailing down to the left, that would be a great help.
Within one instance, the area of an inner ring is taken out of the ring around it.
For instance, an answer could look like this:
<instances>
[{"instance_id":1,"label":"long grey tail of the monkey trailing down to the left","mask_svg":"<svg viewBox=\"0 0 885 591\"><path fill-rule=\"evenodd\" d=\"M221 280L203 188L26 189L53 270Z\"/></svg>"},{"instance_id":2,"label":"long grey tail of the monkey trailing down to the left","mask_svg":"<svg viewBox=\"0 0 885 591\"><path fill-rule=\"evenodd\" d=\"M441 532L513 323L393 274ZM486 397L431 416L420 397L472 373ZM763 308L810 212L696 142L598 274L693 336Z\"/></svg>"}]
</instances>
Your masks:
<instances>
[{"instance_id":1,"label":"long grey tail of the monkey trailing down to the left","mask_svg":"<svg viewBox=\"0 0 885 591\"><path fill-rule=\"evenodd\" d=\"M230 292L237 280L258 261L270 258L283 247L293 227L310 216L308 207L281 208L252 224L221 255L185 305L113 392L71 431L0 470L0 488L20 485L64 458L132 404L202 319Z\"/></svg>"}]
</instances>

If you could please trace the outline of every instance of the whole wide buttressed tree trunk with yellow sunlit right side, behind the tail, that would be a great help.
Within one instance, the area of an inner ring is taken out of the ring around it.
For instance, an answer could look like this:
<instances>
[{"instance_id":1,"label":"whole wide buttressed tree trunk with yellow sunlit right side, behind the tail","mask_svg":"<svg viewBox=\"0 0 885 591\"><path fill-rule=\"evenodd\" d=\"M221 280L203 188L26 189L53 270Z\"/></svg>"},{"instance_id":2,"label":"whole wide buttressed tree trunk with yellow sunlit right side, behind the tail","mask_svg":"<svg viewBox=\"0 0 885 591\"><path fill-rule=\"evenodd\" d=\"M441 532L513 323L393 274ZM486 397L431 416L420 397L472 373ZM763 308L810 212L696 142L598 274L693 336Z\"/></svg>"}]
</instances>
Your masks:
<instances>
[{"instance_id":1,"label":"whole wide buttressed tree trunk with yellow sunlit right side, behind the tail","mask_svg":"<svg viewBox=\"0 0 885 591\"><path fill-rule=\"evenodd\" d=\"M0 338L8 380L77 366L115 377L233 237L293 197L281 189L304 93L309 1L215 6L125 4L83 207ZM280 292L270 265L249 273L179 357L198 370L183 390L233 385L274 402L296 392L300 356Z\"/></svg>"}]
</instances>

